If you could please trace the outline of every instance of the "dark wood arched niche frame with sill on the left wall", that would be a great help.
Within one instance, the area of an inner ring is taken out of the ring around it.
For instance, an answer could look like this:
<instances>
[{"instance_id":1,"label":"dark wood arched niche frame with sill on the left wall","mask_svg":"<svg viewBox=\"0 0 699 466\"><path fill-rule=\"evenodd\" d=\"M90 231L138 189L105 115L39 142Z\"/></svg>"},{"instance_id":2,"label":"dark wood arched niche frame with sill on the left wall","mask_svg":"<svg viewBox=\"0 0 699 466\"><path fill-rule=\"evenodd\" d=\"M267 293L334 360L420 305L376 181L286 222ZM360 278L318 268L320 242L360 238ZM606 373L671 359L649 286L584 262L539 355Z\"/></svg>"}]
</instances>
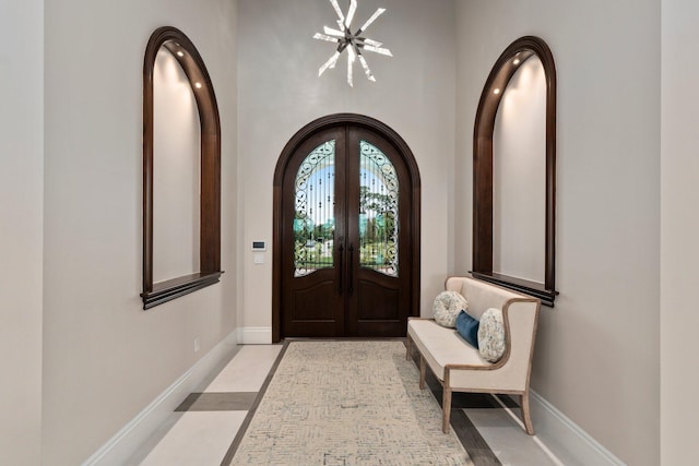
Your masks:
<instances>
[{"instance_id":1,"label":"dark wood arched niche frame with sill on the left wall","mask_svg":"<svg viewBox=\"0 0 699 466\"><path fill-rule=\"evenodd\" d=\"M185 71L201 124L199 272L153 283L153 70L165 47ZM218 283L221 274L221 121L214 87L199 51L176 27L157 28L143 60L143 309Z\"/></svg>"}]
</instances>

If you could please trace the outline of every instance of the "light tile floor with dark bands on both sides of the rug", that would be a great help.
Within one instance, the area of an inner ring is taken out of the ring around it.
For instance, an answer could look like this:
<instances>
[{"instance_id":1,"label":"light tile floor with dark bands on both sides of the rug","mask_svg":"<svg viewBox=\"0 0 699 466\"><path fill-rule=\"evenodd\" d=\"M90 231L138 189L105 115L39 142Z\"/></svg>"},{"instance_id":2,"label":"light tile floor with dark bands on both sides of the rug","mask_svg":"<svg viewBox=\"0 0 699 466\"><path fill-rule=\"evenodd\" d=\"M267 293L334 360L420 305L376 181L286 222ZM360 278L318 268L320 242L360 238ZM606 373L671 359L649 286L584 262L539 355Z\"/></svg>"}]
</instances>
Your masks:
<instances>
[{"instance_id":1,"label":"light tile floor with dark bands on both sides of the rug","mask_svg":"<svg viewBox=\"0 0 699 466\"><path fill-rule=\"evenodd\" d=\"M281 349L282 345L238 346L233 358L173 413L128 464L218 466ZM438 392L435 380L428 384ZM564 464L540 439L522 430L519 409L509 398L454 394L453 407L460 411L452 411L452 425L476 466Z\"/></svg>"}]
</instances>

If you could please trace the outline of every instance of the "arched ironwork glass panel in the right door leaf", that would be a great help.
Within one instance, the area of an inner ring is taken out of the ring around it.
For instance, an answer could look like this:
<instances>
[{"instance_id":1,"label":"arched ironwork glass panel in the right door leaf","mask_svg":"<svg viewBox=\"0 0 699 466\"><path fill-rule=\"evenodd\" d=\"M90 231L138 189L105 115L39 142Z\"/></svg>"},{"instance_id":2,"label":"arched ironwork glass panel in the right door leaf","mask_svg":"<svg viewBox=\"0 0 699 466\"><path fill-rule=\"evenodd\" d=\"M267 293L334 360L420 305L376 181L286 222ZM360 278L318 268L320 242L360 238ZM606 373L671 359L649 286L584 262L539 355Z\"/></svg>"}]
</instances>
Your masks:
<instances>
[{"instance_id":1,"label":"arched ironwork glass panel in the right door leaf","mask_svg":"<svg viewBox=\"0 0 699 466\"><path fill-rule=\"evenodd\" d=\"M375 145L359 142L359 265L398 277L398 175Z\"/></svg>"}]
</instances>

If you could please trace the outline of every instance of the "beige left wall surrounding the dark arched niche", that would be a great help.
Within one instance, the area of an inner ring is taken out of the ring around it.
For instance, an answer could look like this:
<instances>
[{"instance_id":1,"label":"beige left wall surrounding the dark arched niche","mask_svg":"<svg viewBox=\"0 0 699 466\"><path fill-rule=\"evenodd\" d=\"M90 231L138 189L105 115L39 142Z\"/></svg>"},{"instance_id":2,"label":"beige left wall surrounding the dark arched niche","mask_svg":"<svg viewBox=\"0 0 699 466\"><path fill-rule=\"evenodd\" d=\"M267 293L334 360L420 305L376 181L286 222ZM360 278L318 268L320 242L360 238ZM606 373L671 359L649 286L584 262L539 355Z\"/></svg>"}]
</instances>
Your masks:
<instances>
[{"instance_id":1,"label":"beige left wall surrounding the dark arched niche","mask_svg":"<svg viewBox=\"0 0 699 466\"><path fill-rule=\"evenodd\" d=\"M235 5L46 3L46 464L87 458L235 330ZM226 274L218 285L144 312L142 70L149 37L164 25L194 43L218 99Z\"/></svg>"}]
</instances>

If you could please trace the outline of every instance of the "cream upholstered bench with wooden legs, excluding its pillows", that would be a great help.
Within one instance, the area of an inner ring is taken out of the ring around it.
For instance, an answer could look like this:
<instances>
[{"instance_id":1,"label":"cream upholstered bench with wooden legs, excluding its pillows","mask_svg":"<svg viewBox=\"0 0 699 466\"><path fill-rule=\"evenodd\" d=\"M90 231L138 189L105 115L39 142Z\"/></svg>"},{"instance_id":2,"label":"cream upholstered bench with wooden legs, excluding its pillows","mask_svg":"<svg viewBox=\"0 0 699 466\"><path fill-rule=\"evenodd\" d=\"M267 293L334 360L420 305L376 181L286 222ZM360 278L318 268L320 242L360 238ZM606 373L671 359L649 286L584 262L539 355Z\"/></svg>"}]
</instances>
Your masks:
<instances>
[{"instance_id":1,"label":"cream upholstered bench with wooden legs, excluding its pillows","mask_svg":"<svg viewBox=\"0 0 699 466\"><path fill-rule=\"evenodd\" d=\"M505 354L488 362L454 328L441 326L434 319L412 318L407 323L407 355L412 347L419 353L419 387L425 387L426 367L443 387L442 430L449 429L452 392L520 395L522 420L530 435L534 427L529 409L529 382L541 301L471 277L449 277L446 290L458 291L469 301L466 312L481 319L483 313L502 310Z\"/></svg>"}]
</instances>

